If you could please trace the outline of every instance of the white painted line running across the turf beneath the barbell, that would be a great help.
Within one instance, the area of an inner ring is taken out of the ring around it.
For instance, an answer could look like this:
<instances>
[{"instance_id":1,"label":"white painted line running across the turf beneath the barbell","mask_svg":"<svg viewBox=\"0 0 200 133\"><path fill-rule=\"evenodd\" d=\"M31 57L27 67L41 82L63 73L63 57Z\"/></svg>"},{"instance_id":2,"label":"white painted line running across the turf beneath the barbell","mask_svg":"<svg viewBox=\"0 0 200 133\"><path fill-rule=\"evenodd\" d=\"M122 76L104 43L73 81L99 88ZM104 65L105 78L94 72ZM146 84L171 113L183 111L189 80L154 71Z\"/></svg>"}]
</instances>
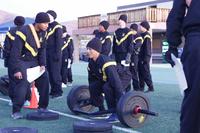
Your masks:
<instances>
[{"instance_id":1,"label":"white painted line running across the turf beneath the barbell","mask_svg":"<svg viewBox=\"0 0 200 133\"><path fill-rule=\"evenodd\" d=\"M4 101L4 102L9 102L10 101L10 100L5 99L5 98L0 98L0 100ZM62 116L65 116L65 117L69 117L69 118L73 118L73 119L78 119L78 120L83 120L83 121L91 120L91 119L87 119L87 118L83 118L83 117L79 117L79 116L75 116L75 115L71 115L71 114L62 113L62 112L59 112L59 111L56 111L56 110L52 110L52 109L49 109L49 111L54 112L54 113L58 113L59 115L62 115ZM141 133L141 132L138 132L138 131L133 131L131 129L118 127L118 126L115 126L115 125L113 125L113 129L119 130L119 131L123 131L123 132L126 132L126 133Z\"/></svg>"}]
</instances>

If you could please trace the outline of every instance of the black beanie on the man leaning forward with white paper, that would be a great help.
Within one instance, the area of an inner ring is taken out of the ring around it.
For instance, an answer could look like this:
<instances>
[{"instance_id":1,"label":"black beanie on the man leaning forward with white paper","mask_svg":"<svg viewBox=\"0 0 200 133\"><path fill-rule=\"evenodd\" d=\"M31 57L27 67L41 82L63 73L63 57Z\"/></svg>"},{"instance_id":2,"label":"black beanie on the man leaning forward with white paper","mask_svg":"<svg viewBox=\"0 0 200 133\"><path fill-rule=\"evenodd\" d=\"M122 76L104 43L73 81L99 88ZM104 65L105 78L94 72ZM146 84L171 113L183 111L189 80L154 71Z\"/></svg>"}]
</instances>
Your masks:
<instances>
[{"instance_id":1,"label":"black beanie on the man leaning forward with white paper","mask_svg":"<svg viewBox=\"0 0 200 133\"><path fill-rule=\"evenodd\" d=\"M35 23L49 23L50 18L47 13L39 12L35 17Z\"/></svg>"}]
</instances>

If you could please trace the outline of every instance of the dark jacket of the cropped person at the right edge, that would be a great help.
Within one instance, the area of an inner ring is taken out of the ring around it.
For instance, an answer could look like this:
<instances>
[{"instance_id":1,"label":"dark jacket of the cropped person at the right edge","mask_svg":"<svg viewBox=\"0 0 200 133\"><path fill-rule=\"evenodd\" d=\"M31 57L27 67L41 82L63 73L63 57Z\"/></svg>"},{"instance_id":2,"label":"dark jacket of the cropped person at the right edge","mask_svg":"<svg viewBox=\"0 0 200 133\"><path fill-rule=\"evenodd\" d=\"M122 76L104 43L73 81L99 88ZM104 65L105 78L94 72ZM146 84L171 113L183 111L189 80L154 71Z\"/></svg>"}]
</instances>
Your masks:
<instances>
[{"instance_id":1,"label":"dark jacket of the cropped person at the right edge","mask_svg":"<svg viewBox=\"0 0 200 133\"><path fill-rule=\"evenodd\" d=\"M170 46L179 46L182 35L200 32L199 7L199 0L192 0L188 9L185 0L174 0L173 8L167 18L167 41Z\"/></svg>"}]
</instances>

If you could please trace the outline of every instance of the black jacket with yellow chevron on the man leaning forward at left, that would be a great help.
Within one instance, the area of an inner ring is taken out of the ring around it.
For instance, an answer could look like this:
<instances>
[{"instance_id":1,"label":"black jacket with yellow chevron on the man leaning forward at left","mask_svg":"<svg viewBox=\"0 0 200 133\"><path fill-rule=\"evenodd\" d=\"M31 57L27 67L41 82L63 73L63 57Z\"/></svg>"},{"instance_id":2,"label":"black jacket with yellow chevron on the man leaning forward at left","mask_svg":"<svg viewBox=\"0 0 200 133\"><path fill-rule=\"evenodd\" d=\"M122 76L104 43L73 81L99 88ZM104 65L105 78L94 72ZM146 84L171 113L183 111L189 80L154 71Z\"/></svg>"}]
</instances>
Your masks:
<instances>
[{"instance_id":1,"label":"black jacket with yellow chevron on the man leaning forward at left","mask_svg":"<svg viewBox=\"0 0 200 133\"><path fill-rule=\"evenodd\" d=\"M16 32L16 37L10 53L10 63L14 72L21 72L22 61L36 62L40 66L46 65L46 32L37 32L41 47L37 48L34 36L28 25Z\"/></svg>"}]
</instances>

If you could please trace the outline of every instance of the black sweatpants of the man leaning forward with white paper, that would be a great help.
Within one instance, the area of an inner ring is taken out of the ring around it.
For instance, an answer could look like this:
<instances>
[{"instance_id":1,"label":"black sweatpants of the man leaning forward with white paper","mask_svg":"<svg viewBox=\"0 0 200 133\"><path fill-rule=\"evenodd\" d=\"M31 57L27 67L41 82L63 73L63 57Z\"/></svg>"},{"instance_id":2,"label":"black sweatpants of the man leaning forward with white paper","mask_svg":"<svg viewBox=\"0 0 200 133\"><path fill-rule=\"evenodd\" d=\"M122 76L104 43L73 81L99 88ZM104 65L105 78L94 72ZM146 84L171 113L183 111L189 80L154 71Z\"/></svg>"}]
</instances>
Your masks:
<instances>
[{"instance_id":1,"label":"black sweatpants of the man leaning forward with white paper","mask_svg":"<svg viewBox=\"0 0 200 133\"><path fill-rule=\"evenodd\" d=\"M12 78L15 82L13 88L12 102L13 102L13 113L20 112L24 101L26 99L27 91L30 90L30 83L27 81L26 69L30 67L35 67L38 64L35 62L21 62L23 68L22 79L16 79L14 77L14 72ZM38 79L35 80L35 86L39 91L39 108L47 108L49 103L49 80L47 72L45 71Z\"/></svg>"}]
</instances>

